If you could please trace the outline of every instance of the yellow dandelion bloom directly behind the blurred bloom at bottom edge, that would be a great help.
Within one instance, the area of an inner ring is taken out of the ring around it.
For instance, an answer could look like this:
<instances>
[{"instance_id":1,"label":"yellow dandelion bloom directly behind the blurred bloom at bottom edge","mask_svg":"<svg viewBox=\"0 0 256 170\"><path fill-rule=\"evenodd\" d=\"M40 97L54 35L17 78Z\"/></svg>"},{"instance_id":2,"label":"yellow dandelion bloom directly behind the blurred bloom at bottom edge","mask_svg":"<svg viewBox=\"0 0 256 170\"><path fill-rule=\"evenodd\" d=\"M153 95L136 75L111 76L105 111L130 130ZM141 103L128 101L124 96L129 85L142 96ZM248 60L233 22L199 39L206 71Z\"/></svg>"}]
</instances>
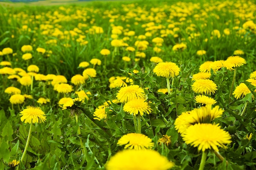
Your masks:
<instances>
[{"instance_id":1,"label":"yellow dandelion bloom directly behind the blurred bloom at bottom edge","mask_svg":"<svg viewBox=\"0 0 256 170\"><path fill-rule=\"evenodd\" d=\"M125 149L130 148L135 150L151 149L155 145L152 142L152 139L140 133L128 133L127 135L122 136L117 144L125 145Z\"/></svg>"}]
</instances>

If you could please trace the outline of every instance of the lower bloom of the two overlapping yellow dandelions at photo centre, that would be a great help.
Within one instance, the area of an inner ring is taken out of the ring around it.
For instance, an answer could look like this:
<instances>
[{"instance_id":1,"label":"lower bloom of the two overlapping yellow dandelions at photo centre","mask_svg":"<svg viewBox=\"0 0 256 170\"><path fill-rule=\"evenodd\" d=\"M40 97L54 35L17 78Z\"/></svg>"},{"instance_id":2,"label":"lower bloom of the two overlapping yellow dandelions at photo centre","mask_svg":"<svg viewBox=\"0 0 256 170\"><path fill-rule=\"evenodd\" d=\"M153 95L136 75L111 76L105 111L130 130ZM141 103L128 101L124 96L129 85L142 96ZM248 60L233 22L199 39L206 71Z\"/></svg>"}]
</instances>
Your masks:
<instances>
[{"instance_id":1,"label":"lower bloom of the two overlapping yellow dandelions at photo centre","mask_svg":"<svg viewBox=\"0 0 256 170\"><path fill-rule=\"evenodd\" d=\"M138 115L141 116L146 114L150 114L152 109L148 106L148 103L144 101L145 99L132 99L124 105L124 111L128 112L130 115Z\"/></svg>"}]
</instances>

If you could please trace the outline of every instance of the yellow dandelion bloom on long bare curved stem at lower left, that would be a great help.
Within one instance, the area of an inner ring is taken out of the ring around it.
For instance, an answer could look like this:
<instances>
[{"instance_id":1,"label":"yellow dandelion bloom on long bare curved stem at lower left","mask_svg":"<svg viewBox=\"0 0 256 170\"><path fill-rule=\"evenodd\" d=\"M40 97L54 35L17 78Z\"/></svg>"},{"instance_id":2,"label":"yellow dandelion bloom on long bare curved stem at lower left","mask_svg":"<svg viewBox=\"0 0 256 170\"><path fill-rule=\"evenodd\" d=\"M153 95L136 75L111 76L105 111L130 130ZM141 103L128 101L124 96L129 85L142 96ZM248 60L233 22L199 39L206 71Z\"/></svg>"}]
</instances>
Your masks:
<instances>
[{"instance_id":1,"label":"yellow dandelion bloom on long bare curved stem at lower left","mask_svg":"<svg viewBox=\"0 0 256 170\"><path fill-rule=\"evenodd\" d=\"M24 123L29 123L31 124L31 122L34 123L41 123L44 122L46 120L46 115L43 112L43 110L41 110L40 107L35 107L35 106L27 106L27 108L25 108L24 110L22 110L20 112L20 120L24 121Z\"/></svg>"}]
</instances>

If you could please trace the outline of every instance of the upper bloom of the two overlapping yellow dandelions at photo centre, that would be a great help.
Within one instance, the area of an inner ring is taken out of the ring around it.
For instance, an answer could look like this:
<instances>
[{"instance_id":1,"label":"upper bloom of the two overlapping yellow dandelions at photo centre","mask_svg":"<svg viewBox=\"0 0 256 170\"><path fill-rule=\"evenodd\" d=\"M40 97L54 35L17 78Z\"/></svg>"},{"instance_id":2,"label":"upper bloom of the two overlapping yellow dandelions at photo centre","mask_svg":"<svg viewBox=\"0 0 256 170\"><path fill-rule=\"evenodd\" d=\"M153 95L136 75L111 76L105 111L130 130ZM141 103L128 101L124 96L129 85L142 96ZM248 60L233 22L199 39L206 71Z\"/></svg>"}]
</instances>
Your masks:
<instances>
[{"instance_id":1,"label":"upper bloom of the two overlapping yellow dandelions at photo centre","mask_svg":"<svg viewBox=\"0 0 256 170\"><path fill-rule=\"evenodd\" d=\"M117 99L122 102L128 102L132 99L143 98L145 97L144 90L138 85L130 85L122 87L117 93Z\"/></svg>"}]
</instances>

